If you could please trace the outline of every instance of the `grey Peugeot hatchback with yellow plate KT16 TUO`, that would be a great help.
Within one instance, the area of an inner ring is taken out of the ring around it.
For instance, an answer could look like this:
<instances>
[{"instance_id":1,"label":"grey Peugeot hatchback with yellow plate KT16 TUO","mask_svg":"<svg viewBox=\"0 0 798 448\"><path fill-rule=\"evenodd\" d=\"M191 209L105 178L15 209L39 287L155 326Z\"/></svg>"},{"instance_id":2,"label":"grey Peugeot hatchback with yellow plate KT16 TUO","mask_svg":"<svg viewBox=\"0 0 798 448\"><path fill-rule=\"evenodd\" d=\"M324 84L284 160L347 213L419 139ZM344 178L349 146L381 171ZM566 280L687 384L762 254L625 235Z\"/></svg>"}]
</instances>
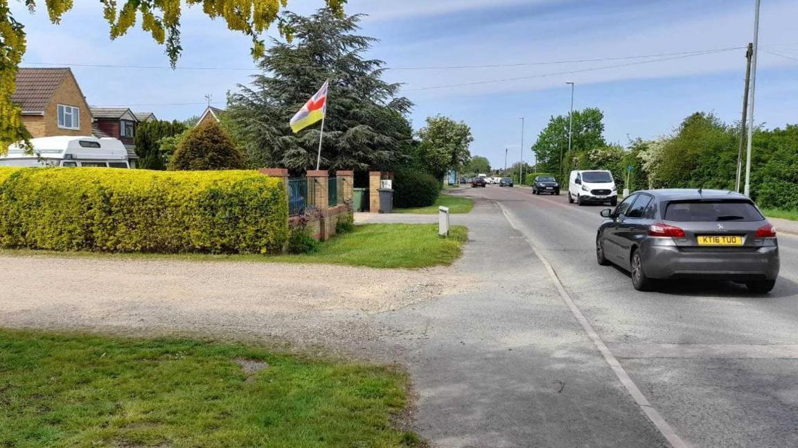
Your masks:
<instances>
[{"instance_id":1,"label":"grey Peugeot hatchback with yellow plate KT16 TUO","mask_svg":"<svg viewBox=\"0 0 798 448\"><path fill-rule=\"evenodd\" d=\"M779 276L776 229L744 195L721 190L635 191L596 235L599 265L618 265L639 291L672 278L729 280L768 293Z\"/></svg>"}]
</instances>

